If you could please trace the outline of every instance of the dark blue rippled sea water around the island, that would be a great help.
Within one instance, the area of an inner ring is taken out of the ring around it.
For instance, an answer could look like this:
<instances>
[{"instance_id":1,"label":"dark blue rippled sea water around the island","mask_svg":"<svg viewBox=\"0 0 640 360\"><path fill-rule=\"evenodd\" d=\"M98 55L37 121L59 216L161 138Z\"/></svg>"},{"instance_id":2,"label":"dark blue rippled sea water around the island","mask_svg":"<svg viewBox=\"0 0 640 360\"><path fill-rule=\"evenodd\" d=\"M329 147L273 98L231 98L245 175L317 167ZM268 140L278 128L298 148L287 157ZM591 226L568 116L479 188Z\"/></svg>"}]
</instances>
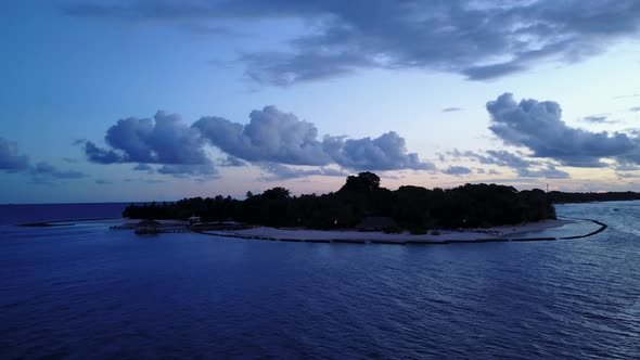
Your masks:
<instances>
[{"instance_id":1,"label":"dark blue rippled sea water around the island","mask_svg":"<svg viewBox=\"0 0 640 360\"><path fill-rule=\"evenodd\" d=\"M558 213L610 228L362 246L2 226L0 358L640 358L640 203Z\"/></svg>"}]
</instances>

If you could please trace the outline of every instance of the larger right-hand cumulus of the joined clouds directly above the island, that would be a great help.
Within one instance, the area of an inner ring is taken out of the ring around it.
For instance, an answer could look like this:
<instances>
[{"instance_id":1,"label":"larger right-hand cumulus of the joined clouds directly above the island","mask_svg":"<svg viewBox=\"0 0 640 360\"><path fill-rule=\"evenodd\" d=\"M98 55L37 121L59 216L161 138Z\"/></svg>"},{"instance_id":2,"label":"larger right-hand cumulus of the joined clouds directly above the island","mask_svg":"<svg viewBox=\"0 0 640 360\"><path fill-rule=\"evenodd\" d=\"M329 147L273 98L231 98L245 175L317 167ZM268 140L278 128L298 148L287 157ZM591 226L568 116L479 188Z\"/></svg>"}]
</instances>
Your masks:
<instances>
[{"instance_id":1,"label":"larger right-hand cumulus of the joined clouds directly above the island","mask_svg":"<svg viewBox=\"0 0 640 360\"><path fill-rule=\"evenodd\" d=\"M379 138L318 137L315 125L274 106L249 114L242 125L220 117L203 117L193 124L202 137L225 153L247 162L327 166L355 170L433 170L435 166L409 153L405 139L389 131Z\"/></svg>"}]
</instances>

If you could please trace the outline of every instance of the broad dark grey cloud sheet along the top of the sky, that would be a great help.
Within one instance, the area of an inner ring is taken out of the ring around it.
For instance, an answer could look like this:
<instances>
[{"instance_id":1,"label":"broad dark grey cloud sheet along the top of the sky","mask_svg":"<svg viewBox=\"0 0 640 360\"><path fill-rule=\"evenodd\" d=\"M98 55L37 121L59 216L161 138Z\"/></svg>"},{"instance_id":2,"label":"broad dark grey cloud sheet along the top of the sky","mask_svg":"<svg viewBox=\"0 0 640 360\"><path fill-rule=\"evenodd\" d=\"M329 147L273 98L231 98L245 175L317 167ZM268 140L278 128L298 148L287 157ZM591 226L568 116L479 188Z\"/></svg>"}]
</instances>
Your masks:
<instances>
[{"instance_id":1,"label":"broad dark grey cloud sheet along the top of the sky","mask_svg":"<svg viewBox=\"0 0 640 360\"><path fill-rule=\"evenodd\" d=\"M276 86L367 67L441 70L485 80L545 61L581 61L633 39L640 28L640 2L632 0L588 5L579 0L78 0L63 10L72 16L170 22L194 29L219 29L228 20L311 24L285 51L242 56L251 78Z\"/></svg>"}]
</instances>

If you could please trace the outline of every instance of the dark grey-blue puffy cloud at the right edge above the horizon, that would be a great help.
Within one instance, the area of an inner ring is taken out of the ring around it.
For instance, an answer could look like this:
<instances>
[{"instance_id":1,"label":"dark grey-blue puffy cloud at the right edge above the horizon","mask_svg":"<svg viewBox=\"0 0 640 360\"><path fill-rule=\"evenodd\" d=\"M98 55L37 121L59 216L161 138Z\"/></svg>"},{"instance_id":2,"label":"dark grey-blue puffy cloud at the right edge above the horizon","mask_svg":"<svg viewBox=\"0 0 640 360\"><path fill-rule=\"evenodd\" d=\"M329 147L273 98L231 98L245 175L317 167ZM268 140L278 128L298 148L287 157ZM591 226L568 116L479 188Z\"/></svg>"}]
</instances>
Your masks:
<instances>
[{"instance_id":1,"label":"dark grey-blue puffy cloud at the right edge above the horizon","mask_svg":"<svg viewBox=\"0 0 640 360\"><path fill-rule=\"evenodd\" d=\"M560 105L532 99L515 102L504 93L487 103L489 129L504 143L524 146L534 157L552 158L565 166L604 167L600 159L638 154L638 139L620 132L590 132L568 127Z\"/></svg>"}]
</instances>

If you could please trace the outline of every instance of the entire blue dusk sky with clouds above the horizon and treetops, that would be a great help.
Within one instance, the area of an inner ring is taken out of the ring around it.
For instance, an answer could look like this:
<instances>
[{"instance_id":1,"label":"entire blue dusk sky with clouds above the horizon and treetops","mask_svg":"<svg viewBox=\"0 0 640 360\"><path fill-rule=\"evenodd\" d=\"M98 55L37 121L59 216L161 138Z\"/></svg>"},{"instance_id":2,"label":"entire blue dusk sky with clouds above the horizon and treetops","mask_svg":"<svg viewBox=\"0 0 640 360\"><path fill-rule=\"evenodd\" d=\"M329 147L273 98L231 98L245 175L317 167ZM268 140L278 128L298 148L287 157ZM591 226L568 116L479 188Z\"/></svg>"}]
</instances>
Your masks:
<instances>
[{"instance_id":1,"label":"entire blue dusk sky with clouds above the horizon and treetops","mask_svg":"<svg viewBox=\"0 0 640 360\"><path fill-rule=\"evenodd\" d=\"M0 204L640 191L640 1L0 4Z\"/></svg>"}]
</instances>

